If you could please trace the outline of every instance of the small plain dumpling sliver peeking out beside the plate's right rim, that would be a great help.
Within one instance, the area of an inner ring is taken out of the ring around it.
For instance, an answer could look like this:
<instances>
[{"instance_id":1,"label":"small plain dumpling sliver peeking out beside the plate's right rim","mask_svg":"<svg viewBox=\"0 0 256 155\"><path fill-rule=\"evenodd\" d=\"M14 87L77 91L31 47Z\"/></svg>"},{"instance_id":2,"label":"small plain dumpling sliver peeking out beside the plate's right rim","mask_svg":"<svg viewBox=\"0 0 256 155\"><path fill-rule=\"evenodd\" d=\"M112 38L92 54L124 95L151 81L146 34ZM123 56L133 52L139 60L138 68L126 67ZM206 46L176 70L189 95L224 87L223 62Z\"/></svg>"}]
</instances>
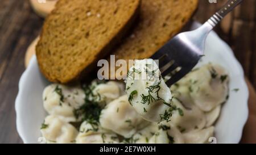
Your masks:
<instances>
[{"instance_id":1,"label":"small plain dumpling sliver peeking out beside the plate's right rim","mask_svg":"<svg viewBox=\"0 0 256 155\"><path fill-rule=\"evenodd\" d=\"M216 122L216 120L218 119L218 116L220 115L220 111L221 111L221 106L217 106L212 111L205 112L205 116L207 119L207 124L205 125L205 127L210 127L211 125L214 124L214 122Z\"/></svg>"}]
</instances>

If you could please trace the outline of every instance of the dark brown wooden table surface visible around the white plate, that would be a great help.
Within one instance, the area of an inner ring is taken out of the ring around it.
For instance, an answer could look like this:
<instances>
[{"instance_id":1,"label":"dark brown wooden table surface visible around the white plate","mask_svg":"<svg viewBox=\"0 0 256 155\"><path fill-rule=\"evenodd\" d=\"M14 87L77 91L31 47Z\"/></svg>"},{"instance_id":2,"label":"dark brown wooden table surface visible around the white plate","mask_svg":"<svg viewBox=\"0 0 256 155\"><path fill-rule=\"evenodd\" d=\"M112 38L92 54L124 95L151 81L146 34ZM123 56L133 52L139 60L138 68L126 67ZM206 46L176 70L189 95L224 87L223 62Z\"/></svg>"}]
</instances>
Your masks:
<instances>
[{"instance_id":1,"label":"dark brown wooden table surface visible around the white plate","mask_svg":"<svg viewBox=\"0 0 256 155\"><path fill-rule=\"evenodd\" d=\"M199 0L194 18L204 22L225 1ZM256 1L245 0L216 29L241 62L256 87ZM24 71L26 48L38 36L43 19L27 0L0 0L0 143L22 143L16 132L14 102L19 78Z\"/></svg>"}]
</instances>

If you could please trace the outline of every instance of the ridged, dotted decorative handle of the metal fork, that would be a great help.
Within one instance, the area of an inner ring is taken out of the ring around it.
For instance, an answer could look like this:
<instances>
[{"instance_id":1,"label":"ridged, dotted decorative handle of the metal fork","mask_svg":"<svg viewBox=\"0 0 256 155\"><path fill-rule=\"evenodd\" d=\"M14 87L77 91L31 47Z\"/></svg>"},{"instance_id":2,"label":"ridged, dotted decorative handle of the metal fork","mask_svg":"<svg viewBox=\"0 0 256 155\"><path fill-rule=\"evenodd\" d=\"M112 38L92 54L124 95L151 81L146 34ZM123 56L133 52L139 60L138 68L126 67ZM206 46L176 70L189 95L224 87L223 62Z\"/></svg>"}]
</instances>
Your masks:
<instances>
[{"instance_id":1,"label":"ridged, dotted decorative handle of the metal fork","mask_svg":"<svg viewBox=\"0 0 256 155\"><path fill-rule=\"evenodd\" d=\"M229 0L220 11L216 12L207 22L215 27L224 16L232 11L236 6L240 5L243 0Z\"/></svg>"}]
</instances>

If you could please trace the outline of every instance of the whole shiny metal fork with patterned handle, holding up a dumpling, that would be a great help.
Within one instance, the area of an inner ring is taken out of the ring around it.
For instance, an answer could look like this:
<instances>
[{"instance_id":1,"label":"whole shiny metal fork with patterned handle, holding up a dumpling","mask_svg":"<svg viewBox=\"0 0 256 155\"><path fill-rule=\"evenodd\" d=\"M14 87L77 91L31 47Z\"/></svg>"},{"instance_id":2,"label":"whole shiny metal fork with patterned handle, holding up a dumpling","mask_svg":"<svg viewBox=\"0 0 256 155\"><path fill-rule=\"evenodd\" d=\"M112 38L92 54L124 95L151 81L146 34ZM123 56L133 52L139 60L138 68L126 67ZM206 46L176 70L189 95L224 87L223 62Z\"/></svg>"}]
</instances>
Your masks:
<instances>
[{"instance_id":1,"label":"whole shiny metal fork with patterned handle, holding up a dumpling","mask_svg":"<svg viewBox=\"0 0 256 155\"><path fill-rule=\"evenodd\" d=\"M201 27L179 33L151 57L153 60L159 60L159 68L163 77L172 73L171 78L166 81L167 86L179 81L195 67L200 58L204 56L205 40L209 32L242 1L228 1Z\"/></svg>"}]
</instances>

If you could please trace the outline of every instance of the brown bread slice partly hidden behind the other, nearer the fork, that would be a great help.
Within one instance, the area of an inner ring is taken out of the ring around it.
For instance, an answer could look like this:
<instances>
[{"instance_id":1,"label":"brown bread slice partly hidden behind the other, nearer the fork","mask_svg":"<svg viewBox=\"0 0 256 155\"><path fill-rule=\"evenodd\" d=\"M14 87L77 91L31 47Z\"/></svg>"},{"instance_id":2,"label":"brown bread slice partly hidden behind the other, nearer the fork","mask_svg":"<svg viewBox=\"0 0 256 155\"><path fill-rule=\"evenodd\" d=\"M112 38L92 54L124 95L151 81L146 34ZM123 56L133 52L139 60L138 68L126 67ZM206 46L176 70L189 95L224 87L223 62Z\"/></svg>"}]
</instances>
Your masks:
<instances>
[{"instance_id":1,"label":"brown bread slice partly hidden behind the other, nearer the fork","mask_svg":"<svg viewBox=\"0 0 256 155\"><path fill-rule=\"evenodd\" d=\"M185 26L197 3L198 0L142 0L137 26L112 55L126 61L151 57Z\"/></svg>"}]
</instances>

